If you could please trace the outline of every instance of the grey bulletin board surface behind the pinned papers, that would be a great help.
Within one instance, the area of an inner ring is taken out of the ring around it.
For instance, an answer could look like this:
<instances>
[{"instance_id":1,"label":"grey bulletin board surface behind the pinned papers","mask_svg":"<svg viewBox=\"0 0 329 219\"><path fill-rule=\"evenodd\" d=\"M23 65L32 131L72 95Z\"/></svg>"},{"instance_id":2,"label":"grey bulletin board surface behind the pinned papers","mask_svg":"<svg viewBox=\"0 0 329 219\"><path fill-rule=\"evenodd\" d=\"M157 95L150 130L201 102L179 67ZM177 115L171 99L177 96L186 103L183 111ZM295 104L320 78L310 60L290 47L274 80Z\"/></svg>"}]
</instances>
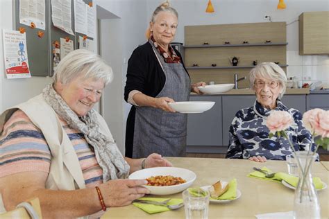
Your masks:
<instances>
[{"instance_id":1,"label":"grey bulletin board surface behind the pinned papers","mask_svg":"<svg viewBox=\"0 0 329 219\"><path fill-rule=\"evenodd\" d=\"M92 2L92 0L83 1ZM51 0L45 0L45 7L45 30L31 28L19 23L19 0L15 0L15 30L19 30L20 27L24 27L26 30L26 49L31 76L53 76L53 42L60 42L60 38L69 37L69 40L73 40L74 49L78 49L78 36L83 36L83 34L75 32L75 35L70 35L53 26ZM71 0L71 29L74 31L74 0ZM38 37L38 31L44 32L43 37ZM93 40L91 37L87 38Z\"/></svg>"}]
</instances>

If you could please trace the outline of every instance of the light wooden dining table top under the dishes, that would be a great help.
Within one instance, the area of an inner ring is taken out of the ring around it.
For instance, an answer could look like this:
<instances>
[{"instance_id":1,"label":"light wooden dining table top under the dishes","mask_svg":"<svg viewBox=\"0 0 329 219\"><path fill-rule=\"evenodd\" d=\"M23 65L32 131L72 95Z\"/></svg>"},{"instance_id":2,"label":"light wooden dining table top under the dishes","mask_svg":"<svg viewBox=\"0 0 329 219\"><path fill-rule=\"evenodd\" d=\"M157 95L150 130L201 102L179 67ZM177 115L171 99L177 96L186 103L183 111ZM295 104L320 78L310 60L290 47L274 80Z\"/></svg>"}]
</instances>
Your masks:
<instances>
[{"instance_id":1,"label":"light wooden dining table top under the dishes","mask_svg":"<svg viewBox=\"0 0 329 219\"><path fill-rule=\"evenodd\" d=\"M287 173L286 161L267 161L258 163L246 159L213 159L192 157L167 157L176 167L187 168L196 173L192 187L214 184L219 179L230 181L237 179L237 189L242 195L239 199L221 203L210 203L208 218L255 218L262 213L293 211L294 190L279 182L269 182L263 179L247 177L253 172L253 167L266 166L274 172ZM320 177L329 184L329 162L314 162L312 176ZM324 165L323 165L324 164ZM329 218L328 188L318 192L321 218ZM150 197L182 198L182 193ZM149 214L130 204L125 207L110 207L102 218L185 218L184 208L175 211Z\"/></svg>"}]
</instances>

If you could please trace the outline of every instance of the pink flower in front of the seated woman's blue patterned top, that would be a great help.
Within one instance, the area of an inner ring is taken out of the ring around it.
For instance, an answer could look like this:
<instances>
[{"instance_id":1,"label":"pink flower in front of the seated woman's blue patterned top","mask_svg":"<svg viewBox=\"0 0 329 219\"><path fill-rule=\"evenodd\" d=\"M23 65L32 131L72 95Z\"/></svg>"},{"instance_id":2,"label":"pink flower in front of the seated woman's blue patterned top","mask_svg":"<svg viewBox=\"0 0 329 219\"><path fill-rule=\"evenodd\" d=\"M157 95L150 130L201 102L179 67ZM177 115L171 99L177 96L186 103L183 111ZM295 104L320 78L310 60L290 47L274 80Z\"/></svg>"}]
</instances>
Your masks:
<instances>
[{"instance_id":1,"label":"pink flower in front of the seated woman's blue patterned top","mask_svg":"<svg viewBox=\"0 0 329 219\"><path fill-rule=\"evenodd\" d=\"M277 110L271 112L266 121L269 132L273 134L286 130L290 125L292 125L292 123L294 123L294 119L292 119L292 115L290 115L289 112Z\"/></svg>"}]
</instances>

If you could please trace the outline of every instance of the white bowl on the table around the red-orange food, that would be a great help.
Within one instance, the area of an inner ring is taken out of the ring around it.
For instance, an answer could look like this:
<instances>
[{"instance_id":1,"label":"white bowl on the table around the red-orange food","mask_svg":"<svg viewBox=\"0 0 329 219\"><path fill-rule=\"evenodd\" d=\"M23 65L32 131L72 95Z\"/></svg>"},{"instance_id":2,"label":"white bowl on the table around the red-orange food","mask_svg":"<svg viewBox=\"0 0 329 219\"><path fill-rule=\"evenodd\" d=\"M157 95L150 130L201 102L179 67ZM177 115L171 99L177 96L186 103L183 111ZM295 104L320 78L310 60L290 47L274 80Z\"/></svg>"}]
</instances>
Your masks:
<instances>
[{"instance_id":1,"label":"white bowl on the table around the red-orange food","mask_svg":"<svg viewBox=\"0 0 329 219\"><path fill-rule=\"evenodd\" d=\"M175 186L144 186L149 189L153 195L170 195L179 193L189 188L189 186L191 186L196 179L196 174L194 172L178 167L146 168L130 174L129 179L146 179L157 175L172 175L173 177L181 177L182 179L185 179L186 182Z\"/></svg>"}]
</instances>

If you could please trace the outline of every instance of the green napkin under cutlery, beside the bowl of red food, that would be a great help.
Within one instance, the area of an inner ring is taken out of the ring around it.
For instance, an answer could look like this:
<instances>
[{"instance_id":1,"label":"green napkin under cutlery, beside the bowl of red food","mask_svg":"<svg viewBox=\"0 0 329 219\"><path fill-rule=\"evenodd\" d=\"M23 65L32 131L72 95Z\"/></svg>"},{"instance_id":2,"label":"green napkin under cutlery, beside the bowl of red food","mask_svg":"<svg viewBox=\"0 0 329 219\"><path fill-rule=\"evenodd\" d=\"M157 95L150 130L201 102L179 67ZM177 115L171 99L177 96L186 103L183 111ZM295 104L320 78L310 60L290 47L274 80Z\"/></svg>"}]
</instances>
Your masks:
<instances>
[{"instance_id":1,"label":"green napkin under cutlery, beside the bowl of red food","mask_svg":"<svg viewBox=\"0 0 329 219\"><path fill-rule=\"evenodd\" d=\"M167 199L168 198L145 198L145 197L143 197L143 198L139 198L138 200L163 202ZM171 200L169 202L167 202L167 204L180 204L182 202L183 202L183 199L181 199L181 198L171 198ZM164 212L164 211L170 211L170 209L168 209L165 206L155 205L155 204L133 202L133 205L135 205L135 207L138 207L147 213L160 213L160 212Z\"/></svg>"}]
</instances>

